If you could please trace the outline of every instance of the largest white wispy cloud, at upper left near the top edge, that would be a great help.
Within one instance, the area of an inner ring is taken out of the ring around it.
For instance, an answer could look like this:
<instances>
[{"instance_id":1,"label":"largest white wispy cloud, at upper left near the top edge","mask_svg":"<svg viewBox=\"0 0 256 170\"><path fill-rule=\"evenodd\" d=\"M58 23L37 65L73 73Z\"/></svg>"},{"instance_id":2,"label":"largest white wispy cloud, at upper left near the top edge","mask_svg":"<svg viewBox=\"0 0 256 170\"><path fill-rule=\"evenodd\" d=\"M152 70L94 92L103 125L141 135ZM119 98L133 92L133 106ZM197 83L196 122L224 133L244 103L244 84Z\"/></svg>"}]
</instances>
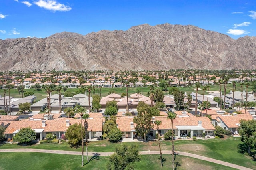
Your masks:
<instances>
[{"instance_id":1,"label":"largest white wispy cloud, at upper left near the top edge","mask_svg":"<svg viewBox=\"0 0 256 170\"><path fill-rule=\"evenodd\" d=\"M72 8L69 6L66 6L64 4L60 4L57 1L54 0L38 0L34 1L34 4L41 8L45 8L46 10L52 10L52 11L70 11Z\"/></svg>"}]
</instances>

